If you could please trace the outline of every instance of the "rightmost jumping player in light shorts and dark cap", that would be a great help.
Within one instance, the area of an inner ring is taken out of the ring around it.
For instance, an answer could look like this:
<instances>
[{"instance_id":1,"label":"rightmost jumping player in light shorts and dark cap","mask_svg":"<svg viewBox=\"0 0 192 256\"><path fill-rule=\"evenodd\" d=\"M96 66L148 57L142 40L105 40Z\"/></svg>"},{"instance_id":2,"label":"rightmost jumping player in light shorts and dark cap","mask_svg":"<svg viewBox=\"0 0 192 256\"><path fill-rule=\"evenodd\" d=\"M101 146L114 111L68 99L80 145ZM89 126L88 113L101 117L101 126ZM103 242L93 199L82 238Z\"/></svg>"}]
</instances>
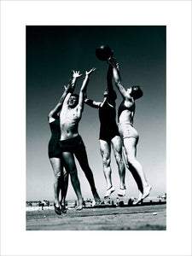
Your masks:
<instances>
[{"instance_id":1,"label":"rightmost jumping player in light shorts and dark cap","mask_svg":"<svg viewBox=\"0 0 192 256\"><path fill-rule=\"evenodd\" d=\"M125 90L124 86L121 84L118 64L113 58L108 62L113 66L113 78L123 97L123 102L119 105L118 111L119 134L123 139L126 163L139 189L138 199L135 202L135 204L138 204L149 195L151 190L151 186L148 184L147 178L143 172L143 167L136 158L139 136L138 132L133 127L133 117L136 108L135 101L143 96L143 91L139 86L132 86Z\"/></svg>"}]
</instances>

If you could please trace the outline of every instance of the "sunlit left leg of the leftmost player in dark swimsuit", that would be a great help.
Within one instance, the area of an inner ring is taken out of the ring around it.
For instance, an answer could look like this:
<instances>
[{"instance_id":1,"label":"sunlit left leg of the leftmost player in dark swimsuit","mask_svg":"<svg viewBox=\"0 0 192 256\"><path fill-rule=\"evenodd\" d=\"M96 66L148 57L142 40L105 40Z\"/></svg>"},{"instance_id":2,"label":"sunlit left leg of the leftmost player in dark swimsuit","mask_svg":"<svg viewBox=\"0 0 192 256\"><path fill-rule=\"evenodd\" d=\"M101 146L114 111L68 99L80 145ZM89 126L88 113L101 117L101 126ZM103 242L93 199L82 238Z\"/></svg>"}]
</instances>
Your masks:
<instances>
[{"instance_id":1,"label":"sunlit left leg of the leftmost player in dark swimsuit","mask_svg":"<svg viewBox=\"0 0 192 256\"><path fill-rule=\"evenodd\" d=\"M52 157L49 159L54 171L54 197L55 206L60 207L59 195L61 189L62 163L60 158Z\"/></svg>"}]
</instances>

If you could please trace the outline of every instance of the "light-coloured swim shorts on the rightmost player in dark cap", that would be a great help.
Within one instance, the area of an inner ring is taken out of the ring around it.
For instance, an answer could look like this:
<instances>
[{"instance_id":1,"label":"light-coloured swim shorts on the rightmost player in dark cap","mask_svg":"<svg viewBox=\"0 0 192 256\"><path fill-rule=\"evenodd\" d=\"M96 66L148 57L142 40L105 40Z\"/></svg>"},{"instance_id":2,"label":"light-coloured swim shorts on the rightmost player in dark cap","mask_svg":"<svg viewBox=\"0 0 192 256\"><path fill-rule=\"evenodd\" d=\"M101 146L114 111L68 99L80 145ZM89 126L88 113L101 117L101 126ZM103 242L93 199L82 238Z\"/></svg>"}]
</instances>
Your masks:
<instances>
[{"instance_id":1,"label":"light-coloured swim shorts on the rightmost player in dark cap","mask_svg":"<svg viewBox=\"0 0 192 256\"><path fill-rule=\"evenodd\" d=\"M118 124L119 133L122 138L126 137L134 137L137 140L139 139L139 135L137 130L133 127L133 125L129 122L122 122Z\"/></svg>"}]
</instances>

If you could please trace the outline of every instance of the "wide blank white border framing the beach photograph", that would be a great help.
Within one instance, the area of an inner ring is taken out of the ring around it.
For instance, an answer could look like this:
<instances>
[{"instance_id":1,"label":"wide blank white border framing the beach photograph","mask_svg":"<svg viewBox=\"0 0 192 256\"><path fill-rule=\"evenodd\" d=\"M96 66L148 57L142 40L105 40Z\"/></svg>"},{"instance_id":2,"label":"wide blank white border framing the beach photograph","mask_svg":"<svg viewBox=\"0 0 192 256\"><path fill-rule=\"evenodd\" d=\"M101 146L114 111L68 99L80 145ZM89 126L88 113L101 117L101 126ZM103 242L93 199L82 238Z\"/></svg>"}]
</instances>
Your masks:
<instances>
[{"instance_id":1,"label":"wide blank white border framing the beach photograph","mask_svg":"<svg viewBox=\"0 0 192 256\"><path fill-rule=\"evenodd\" d=\"M3 1L1 5L2 254L191 255L191 2ZM167 231L26 231L26 25L167 26ZM20 145L19 150L14 145Z\"/></svg>"}]
</instances>

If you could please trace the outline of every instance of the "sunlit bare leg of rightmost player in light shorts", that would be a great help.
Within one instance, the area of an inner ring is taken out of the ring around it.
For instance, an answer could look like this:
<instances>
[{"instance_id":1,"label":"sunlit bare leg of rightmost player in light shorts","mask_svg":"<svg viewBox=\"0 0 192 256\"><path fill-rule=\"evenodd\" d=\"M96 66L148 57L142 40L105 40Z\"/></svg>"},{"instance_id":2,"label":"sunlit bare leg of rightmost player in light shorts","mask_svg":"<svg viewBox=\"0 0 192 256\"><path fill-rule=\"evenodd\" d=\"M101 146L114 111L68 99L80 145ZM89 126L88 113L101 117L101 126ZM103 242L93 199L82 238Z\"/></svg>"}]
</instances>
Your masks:
<instances>
[{"instance_id":1,"label":"sunlit bare leg of rightmost player in light shorts","mask_svg":"<svg viewBox=\"0 0 192 256\"><path fill-rule=\"evenodd\" d=\"M124 139L124 146L131 173L133 174L133 177L136 177L137 175L140 178L143 185L143 195L141 199L139 198L139 201L142 201L149 195L151 186L148 185L147 178L145 177L145 174L143 172L143 167L136 158L137 139L134 137L126 137Z\"/></svg>"}]
</instances>

